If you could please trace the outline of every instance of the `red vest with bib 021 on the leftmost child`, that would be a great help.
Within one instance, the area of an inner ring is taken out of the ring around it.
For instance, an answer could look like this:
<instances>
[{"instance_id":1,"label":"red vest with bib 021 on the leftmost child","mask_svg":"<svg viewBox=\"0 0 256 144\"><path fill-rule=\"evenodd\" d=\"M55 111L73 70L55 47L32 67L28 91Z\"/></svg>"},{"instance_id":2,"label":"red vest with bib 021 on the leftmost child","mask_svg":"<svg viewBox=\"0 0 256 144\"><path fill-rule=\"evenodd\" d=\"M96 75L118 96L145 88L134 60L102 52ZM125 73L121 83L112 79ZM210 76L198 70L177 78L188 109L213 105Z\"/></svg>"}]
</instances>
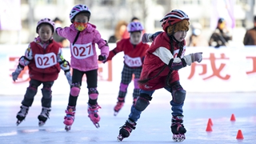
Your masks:
<instances>
[{"instance_id":1,"label":"red vest with bib 021 on the leftmost child","mask_svg":"<svg viewBox=\"0 0 256 144\"><path fill-rule=\"evenodd\" d=\"M54 41L50 42L46 49L43 49L36 42L30 43L30 48L33 52L33 59L28 65L30 78L41 82L54 81L58 78L58 73L61 70L57 61L60 47Z\"/></svg>"}]
</instances>

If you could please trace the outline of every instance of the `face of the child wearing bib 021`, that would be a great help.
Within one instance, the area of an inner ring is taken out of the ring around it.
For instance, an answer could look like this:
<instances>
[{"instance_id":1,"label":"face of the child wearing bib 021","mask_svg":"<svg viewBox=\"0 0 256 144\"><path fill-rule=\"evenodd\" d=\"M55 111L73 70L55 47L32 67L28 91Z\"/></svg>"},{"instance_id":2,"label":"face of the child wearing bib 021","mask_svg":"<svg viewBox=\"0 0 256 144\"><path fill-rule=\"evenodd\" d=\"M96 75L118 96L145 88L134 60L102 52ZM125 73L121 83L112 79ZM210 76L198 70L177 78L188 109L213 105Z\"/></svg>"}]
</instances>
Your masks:
<instances>
[{"instance_id":1,"label":"face of the child wearing bib 021","mask_svg":"<svg viewBox=\"0 0 256 144\"><path fill-rule=\"evenodd\" d=\"M47 42L53 36L53 32L49 25L42 25L38 30L39 38L42 42Z\"/></svg>"}]
</instances>

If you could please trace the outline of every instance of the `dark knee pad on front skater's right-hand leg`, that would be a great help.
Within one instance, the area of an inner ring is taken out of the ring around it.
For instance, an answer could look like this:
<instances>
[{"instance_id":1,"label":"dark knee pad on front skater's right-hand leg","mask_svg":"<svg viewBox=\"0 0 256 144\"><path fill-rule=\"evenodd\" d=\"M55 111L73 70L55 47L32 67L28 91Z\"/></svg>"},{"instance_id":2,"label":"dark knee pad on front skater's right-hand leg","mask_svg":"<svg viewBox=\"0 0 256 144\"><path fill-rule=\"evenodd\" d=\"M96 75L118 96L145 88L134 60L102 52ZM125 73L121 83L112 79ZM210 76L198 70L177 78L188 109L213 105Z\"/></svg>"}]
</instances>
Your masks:
<instances>
[{"instance_id":1,"label":"dark knee pad on front skater's right-hand leg","mask_svg":"<svg viewBox=\"0 0 256 144\"><path fill-rule=\"evenodd\" d=\"M181 104L185 101L186 98L186 90L183 90L182 86L179 84L179 82L176 82L172 86L172 92L173 100L175 103Z\"/></svg>"}]
</instances>

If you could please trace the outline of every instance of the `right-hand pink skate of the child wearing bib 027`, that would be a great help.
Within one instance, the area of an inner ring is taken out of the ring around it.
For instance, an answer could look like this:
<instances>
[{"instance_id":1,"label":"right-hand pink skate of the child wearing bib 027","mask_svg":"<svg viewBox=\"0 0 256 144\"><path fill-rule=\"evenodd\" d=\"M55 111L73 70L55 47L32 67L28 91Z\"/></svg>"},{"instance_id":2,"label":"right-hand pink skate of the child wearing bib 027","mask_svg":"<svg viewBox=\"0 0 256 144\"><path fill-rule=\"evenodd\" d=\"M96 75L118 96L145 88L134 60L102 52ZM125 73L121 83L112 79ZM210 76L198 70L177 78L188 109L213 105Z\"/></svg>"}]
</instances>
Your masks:
<instances>
[{"instance_id":1,"label":"right-hand pink skate of the child wearing bib 027","mask_svg":"<svg viewBox=\"0 0 256 144\"><path fill-rule=\"evenodd\" d=\"M98 115L98 109L102 108L101 106L98 106L98 104L96 105L90 105L90 103L88 103L88 117L90 118L91 122L94 123L94 125L96 126L96 128L99 127L99 120L101 119L101 117Z\"/></svg>"}]
</instances>

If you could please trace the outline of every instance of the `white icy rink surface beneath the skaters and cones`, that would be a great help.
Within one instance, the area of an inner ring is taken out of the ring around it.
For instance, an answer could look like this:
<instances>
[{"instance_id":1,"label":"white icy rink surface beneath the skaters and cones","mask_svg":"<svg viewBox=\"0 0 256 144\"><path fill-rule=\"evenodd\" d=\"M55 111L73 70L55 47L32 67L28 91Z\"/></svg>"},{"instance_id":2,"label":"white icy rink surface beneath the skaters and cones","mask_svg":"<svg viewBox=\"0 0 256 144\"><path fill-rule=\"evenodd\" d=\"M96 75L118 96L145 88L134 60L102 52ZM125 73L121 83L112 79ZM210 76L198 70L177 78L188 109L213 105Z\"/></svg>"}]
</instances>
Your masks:
<instances>
[{"instance_id":1,"label":"white icy rink surface beneath the skaters and cones","mask_svg":"<svg viewBox=\"0 0 256 144\"><path fill-rule=\"evenodd\" d=\"M85 86L83 89L86 89ZM117 141L119 127L124 124L132 103L131 93L126 96L126 103L118 116L114 117L117 89L106 93L100 92L98 103L102 106L100 128L96 128L87 117L86 92L80 94L76 119L71 130L64 130L68 94L54 95L50 119L46 125L38 127L38 114L41 112L41 90L30 107L26 120L16 126L16 114L19 110L22 94L19 96L0 95L0 142L3 144L51 144L51 143L175 143L170 132L170 94L158 90L153 95L150 106L142 112L136 129L129 138ZM24 90L25 91L25 90ZM109 90L110 91L110 90ZM131 91L131 90L130 90ZM53 92L54 93L54 92ZM187 144L233 144L256 143L256 94L255 93L187 93L184 109L184 126ZM231 114L236 121L231 122ZM214 126L212 132L206 132L208 119ZM242 130L243 140L236 139L238 130Z\"/></svg>"}]
</instances>

